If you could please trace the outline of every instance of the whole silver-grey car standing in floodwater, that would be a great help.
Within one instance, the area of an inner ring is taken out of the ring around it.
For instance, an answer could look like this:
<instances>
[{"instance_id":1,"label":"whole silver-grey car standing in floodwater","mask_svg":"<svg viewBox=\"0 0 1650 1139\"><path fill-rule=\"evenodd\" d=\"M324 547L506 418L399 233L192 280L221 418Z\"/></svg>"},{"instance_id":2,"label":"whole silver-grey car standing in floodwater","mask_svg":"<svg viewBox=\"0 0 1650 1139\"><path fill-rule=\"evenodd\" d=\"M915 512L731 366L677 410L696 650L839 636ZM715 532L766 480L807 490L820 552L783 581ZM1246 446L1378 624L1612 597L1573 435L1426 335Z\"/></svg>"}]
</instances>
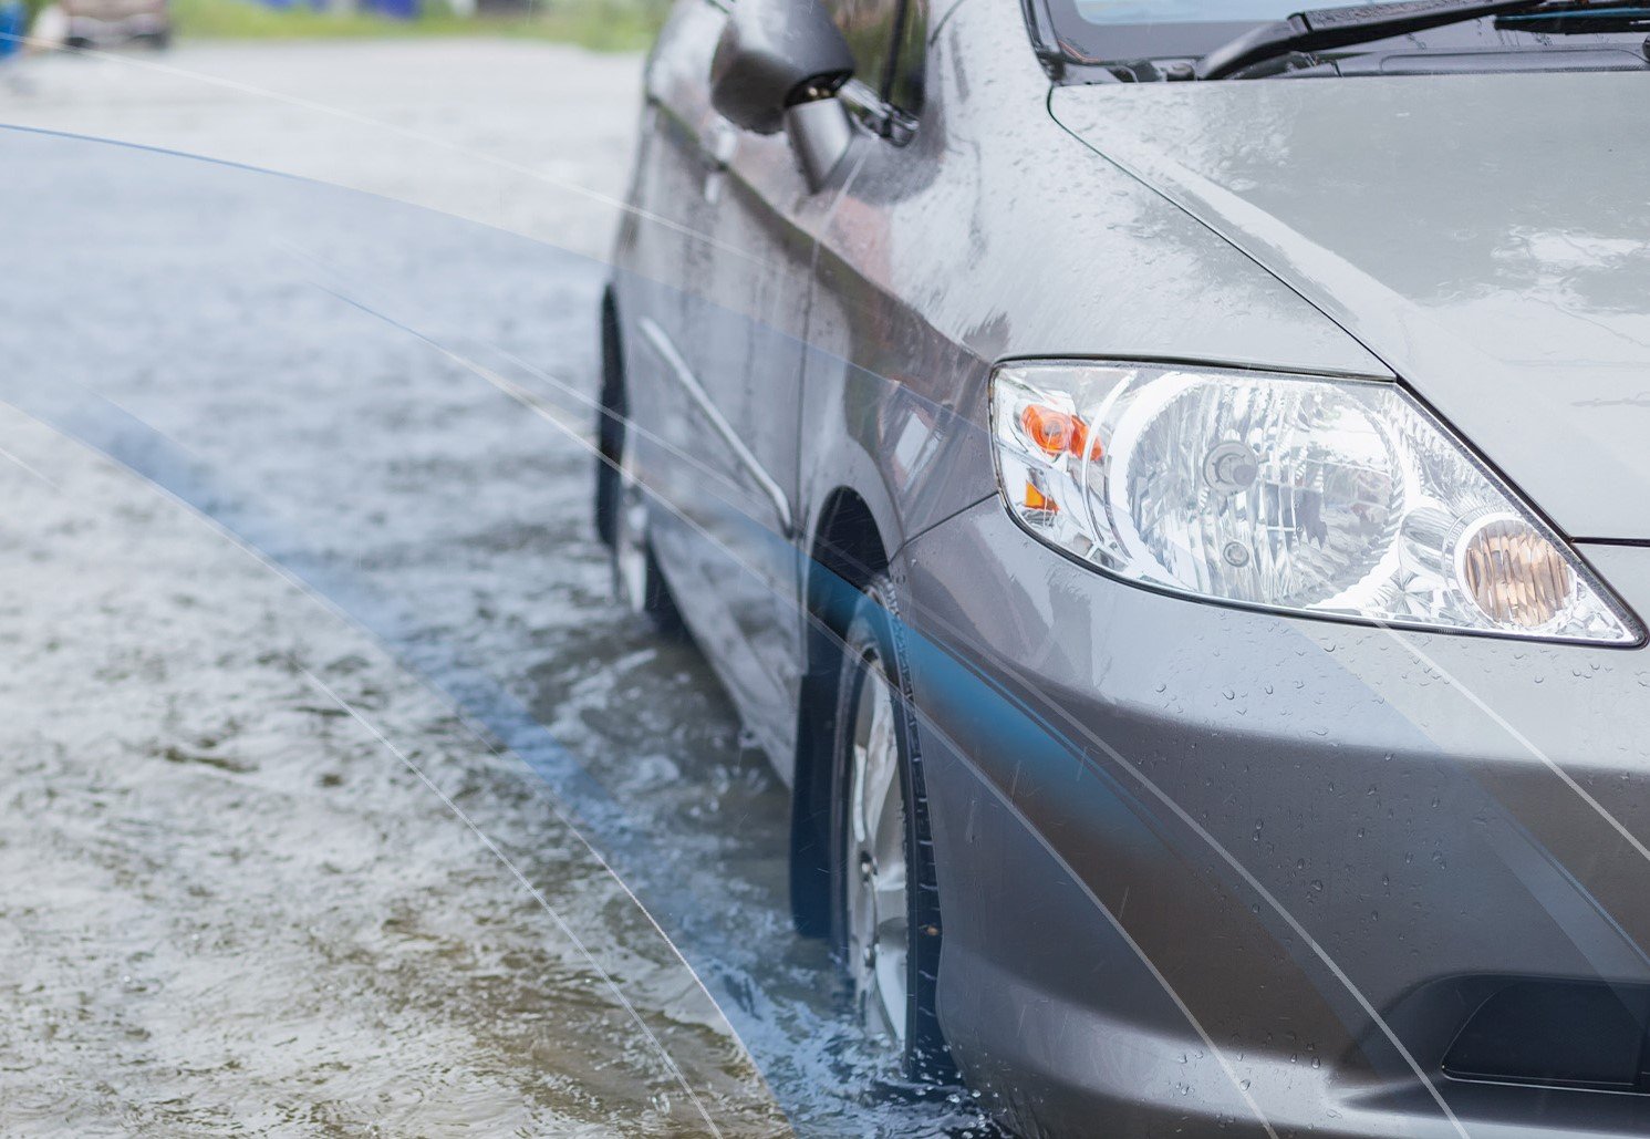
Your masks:
<instances>
[{"instance_id":1,"label":"whole silver-grey car standing in floodwater","mask_svg":"<svg viewBox=\"0 0 1650 1139\"><path fill-rule=\"evenodd\" d=\"M675 3L597 523L911 1073L1650 1132L1647 28Z\"/></svg>"}]
</instances>

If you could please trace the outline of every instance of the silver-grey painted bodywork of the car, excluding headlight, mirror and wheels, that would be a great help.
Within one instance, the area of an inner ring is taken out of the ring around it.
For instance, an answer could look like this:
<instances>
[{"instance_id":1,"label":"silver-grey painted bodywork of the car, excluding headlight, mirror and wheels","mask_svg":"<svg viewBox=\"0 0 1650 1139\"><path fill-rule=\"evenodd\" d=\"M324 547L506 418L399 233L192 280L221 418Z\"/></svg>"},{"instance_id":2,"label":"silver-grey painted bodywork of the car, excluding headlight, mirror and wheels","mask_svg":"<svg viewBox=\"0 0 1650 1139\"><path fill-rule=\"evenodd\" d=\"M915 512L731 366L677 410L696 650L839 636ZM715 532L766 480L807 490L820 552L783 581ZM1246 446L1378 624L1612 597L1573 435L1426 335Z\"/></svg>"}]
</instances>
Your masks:
<instances>
[{"instance_id":1,"label":"silver-grey painted bodywork of the car, excluding headlight, mirror and wheels","mask_svg":"<svg viewBox=\"0 0 1650 1139\"><path fill-rule=\"evenodd\" d=\"M843 494L865 503L901 598L965 1075L1028 1134L1650 1131L1643 1096L1440 1066L1485 977L1650 985L1643 652L1135 589L1008 518L985 432L990 368L1018 357L1371 376L1566 533L1647 536L1643 79L1051 86L1016 5L960 0L927 12L909 142L861 134L808 193L780 137L741 135L751 165L713 193L721 18L681 0L653 58L615 258L634 416L670 442L662 561L797 779L813 536ZM746 371L705 388L747 416L790 527L642 315L724 338L698 366ZM1650 550L1581 551L1650 612ZM741 604L774 629L789 606L792 632L757 644ZM738 680L762 669L777 707Z\"/></svg>"}]
</instances>

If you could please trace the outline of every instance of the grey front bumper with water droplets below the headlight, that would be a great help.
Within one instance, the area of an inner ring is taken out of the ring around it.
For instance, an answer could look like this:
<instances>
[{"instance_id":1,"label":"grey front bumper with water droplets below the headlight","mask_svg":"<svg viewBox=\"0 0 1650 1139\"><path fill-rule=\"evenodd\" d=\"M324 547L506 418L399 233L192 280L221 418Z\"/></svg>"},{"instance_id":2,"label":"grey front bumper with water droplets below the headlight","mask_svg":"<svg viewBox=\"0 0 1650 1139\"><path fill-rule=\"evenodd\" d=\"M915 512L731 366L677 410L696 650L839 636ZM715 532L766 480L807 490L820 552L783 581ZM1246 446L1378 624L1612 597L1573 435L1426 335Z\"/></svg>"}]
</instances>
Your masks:
<instances>
[{"instance_id":1,"label":"grey front bumper with water droplets below the headlight","mask_svg":"<svg viewBox=\"0 0 1650 1139\"><path fill-rule=\"evenodd\" d=\"M1650 612L1650 550L1586 553ZM1445 1071L1520 979L1650 994L1643 650L1160 596L997 500L896 574L940 1020L1021 1127L1650 1132L1638 1086Z\"/></svg>"}]
</instances>

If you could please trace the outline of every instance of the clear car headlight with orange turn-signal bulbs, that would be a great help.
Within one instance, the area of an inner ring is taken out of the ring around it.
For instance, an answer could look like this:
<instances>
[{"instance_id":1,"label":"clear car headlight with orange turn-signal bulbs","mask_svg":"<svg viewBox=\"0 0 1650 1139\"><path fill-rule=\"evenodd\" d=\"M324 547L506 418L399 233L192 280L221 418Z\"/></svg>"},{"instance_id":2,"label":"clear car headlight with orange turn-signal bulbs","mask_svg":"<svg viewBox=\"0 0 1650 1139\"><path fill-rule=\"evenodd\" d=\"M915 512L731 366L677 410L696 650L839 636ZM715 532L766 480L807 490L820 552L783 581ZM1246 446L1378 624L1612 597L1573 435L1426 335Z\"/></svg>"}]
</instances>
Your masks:
<instances>
[{"instance_id":1,"label":"clear car headlight with orange turn-signal bulbs","mask_svg":"<svg viewBox=\"0 0 1650 1139\"><path fill-rule=\"evenodd\" d=\"M1211 601L1635 644L1637 621L1394 383L1031 362L992 376L1015 518L1101 570Z\"/></svg>"}]
</instances>

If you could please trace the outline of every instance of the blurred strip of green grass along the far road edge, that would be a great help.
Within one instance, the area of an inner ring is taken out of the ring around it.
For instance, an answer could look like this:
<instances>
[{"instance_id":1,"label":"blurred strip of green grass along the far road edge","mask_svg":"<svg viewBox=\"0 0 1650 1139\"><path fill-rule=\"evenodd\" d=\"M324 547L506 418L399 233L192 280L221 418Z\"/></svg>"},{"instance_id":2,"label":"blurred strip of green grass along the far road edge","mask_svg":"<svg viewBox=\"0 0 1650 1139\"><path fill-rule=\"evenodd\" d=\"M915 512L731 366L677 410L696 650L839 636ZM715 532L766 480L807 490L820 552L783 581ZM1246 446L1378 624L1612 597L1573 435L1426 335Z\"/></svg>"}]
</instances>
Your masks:
<instances>
[{"instance_id":1,"label":"blurred strip of green grass along the far road edge","mask_svg":"<svg viewBox=\"0 0 1650 1139\"><path fill-rule=\"evenodd\" d=\"M412 36L507 36L573 43L594 51L639 51L665 15L660 0L540 0L512 15L452 15L444 0L424 0L416 20L370 12L277 10L252 0L172 0L180 38L188 40L388 40Z\"/></svg>"}]
</instances>

